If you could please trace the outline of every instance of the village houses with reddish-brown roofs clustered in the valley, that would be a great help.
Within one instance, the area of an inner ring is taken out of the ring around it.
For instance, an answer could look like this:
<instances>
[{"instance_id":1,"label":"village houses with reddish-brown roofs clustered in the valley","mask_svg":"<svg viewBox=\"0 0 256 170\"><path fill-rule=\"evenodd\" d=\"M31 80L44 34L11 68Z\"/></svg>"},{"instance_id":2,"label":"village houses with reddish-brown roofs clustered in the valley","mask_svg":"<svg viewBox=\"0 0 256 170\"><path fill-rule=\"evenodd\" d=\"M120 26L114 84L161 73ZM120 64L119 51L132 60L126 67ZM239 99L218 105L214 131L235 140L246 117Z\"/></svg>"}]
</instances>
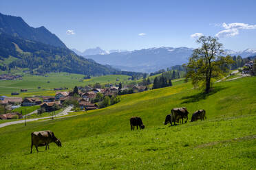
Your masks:
<instances>
[{"instance_id":1,"label":"village houses with reddish-brown roofs clustered in the valley","mask_svg":"<svg viewBox=\"0 0 256 170\"><path fill-rule=\"evenodd\" d=\"M0 106L3 106L6 110L12 110L19 108L20 106L40 106L43 112L52 112L61 108L63 102L68 100L77 100L79 108L81 110L94 110L98 109L98 106L94 104L97 93L103 94L103 96L116 96L119 90L132 89L134 92L142 92L145 90L145 86L125 86L121 89L119 86L109 86L107 88L92 88L90 86L78 87L78 96L74 97L73 91L57 91L55 96L36 96L36 97L6 97L0 96ZM25 89L22 89L25 90ZM3 114L3 113L0 113ZM14 113L7 114L7 116L1 116L0 119L8 119L12 117ZM18 115L20 118L20 115Z\"/></svg>"}]
</instances>

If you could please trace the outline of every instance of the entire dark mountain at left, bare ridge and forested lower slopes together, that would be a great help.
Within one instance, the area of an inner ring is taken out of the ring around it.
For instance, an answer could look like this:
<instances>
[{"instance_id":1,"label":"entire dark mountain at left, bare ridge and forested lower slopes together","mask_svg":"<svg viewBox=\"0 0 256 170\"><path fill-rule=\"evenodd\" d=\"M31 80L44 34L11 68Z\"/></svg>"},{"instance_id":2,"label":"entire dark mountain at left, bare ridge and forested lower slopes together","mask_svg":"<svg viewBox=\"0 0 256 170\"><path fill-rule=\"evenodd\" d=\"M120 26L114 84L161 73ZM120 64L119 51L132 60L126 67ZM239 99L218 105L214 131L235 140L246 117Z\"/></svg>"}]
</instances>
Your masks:
<instances>
[{"instance_id":1,"label":"entire dark mountain at left, bare ridge and forested lower slopes together","mask_svg":"<svg viewBox=\"0 0 256 170\"><path fill-rule=\"evenodd\" d=\"M0 70L29 69L49 72L106 75L116 73L111 66L78 56L45 27L30 27L21 17L0 14Z\"/></svg>"}]
</instances>

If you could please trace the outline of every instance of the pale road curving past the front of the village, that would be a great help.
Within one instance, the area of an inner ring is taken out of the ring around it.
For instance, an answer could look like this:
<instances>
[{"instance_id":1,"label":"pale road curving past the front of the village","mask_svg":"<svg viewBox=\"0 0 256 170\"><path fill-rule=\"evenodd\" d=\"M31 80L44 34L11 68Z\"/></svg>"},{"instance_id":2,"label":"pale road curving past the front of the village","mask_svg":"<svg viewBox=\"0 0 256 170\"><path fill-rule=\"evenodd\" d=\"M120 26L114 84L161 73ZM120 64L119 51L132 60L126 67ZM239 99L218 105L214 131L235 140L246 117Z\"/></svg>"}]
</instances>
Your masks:
<instances>
[{"instance_id":1,"label":"pale road curving past the front of the village","mask_svg":"<svg viewBox=\"0 0 256 170\"><path fill-rule=\"evenodd\" d=\"M67 115L68 112L70 112L70 110L71 110L72 108L73 108L72 106L68 106L67 108L65 108L65 110L63 110L62 112L56 114L56 117L61 117L61 116ZM49 118L52 118L52 116L51 116L51 117L39 117L39 118L34 118L34 119L26 119L26 122L29 122L29 121L38 121L38 120L40 120L40 119L49 119ZM8 125L18 124L18 123L25 123L25 120L21 120L21 121L10 121L10 122L6 122L6 123L1 123L1 124L0 124L0 128L1 128L1 127L5 127L5 126L8 126Z\"/></svg>"}]
</instances>

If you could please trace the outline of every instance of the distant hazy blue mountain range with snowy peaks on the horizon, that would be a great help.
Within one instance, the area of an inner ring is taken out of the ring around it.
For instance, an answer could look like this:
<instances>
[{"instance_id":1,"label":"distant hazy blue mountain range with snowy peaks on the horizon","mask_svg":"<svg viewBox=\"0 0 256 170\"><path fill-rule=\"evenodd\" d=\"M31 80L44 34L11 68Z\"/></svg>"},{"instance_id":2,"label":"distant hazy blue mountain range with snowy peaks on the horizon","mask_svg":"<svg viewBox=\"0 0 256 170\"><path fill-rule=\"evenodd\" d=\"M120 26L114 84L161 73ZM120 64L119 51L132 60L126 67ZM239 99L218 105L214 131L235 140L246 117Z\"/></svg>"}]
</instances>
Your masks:
<instances>
[{"instance_id":1,"label":"distant hazy blue mountain range with snowy peaks on the horizon","mask_svg":"<svg viewBox=\"0 0 256 170\"><path fill-rule=\"evenodd\" d=\"M96 49L100 49L97 47ZM85 58L92 58L100 64L109 64L116 69L125 71L138 71L138 72L154 72L160 69L177 64L184 64L188 62L189 57L193 53L193 48L188 47L159 47L140 49L134 51L116 51L112 53L103 53L100 49L99 53L94 55L84 55ZM225 50L226 55L242 56L255 56L255 49L246 49L244 51Z\"/></svg>"}]
</instances>

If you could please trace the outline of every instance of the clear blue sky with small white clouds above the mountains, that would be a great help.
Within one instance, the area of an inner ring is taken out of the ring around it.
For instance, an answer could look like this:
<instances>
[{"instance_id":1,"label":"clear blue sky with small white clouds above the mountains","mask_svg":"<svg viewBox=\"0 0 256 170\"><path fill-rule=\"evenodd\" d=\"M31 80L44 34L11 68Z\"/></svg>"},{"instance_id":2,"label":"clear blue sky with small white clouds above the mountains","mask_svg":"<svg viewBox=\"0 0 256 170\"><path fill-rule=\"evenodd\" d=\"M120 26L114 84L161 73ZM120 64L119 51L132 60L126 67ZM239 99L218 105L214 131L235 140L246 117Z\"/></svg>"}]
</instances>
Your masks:
<instances>
[{"instance_id":1,"label":"clear blue sky with small white clouds above the mountains","mask_svg":"<svg viewBox=\"0 0 256 170\"><path fill-rule=\"evenodd\" d=\"M32 27L43 25L80 51L198 47L195 38L201 34L219 36L225 49L256 49L255 10L256 1L245 0L0 2L1 13L21 16Z\"/></svg>"}]
</instances>

